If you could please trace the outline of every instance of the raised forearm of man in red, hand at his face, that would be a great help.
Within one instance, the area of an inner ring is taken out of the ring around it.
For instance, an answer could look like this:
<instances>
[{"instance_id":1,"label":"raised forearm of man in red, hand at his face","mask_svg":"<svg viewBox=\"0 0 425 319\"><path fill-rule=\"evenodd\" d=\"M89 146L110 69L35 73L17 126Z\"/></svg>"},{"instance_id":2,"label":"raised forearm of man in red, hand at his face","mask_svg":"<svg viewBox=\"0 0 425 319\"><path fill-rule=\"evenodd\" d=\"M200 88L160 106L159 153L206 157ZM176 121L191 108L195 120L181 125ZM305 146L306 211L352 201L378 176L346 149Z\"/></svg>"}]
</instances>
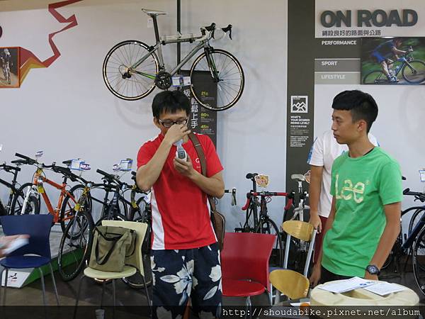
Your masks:
<instances>
[{"instance_id":1,"label":"raised forearm of man in red, hand at his face","mask_svg":"<svg viewBox=\"0 0 425 319\"><path fill-rule=\"evenodd\" d=\"M136 181L142 191L149 191L152 185L157 181L159 174L161 174L162 168L166 162L169 152L171 150L172 143L167 140L162 140L159 145L157 152L155 152L152 159L137 169Z\"/></svg>"}]
</instances>

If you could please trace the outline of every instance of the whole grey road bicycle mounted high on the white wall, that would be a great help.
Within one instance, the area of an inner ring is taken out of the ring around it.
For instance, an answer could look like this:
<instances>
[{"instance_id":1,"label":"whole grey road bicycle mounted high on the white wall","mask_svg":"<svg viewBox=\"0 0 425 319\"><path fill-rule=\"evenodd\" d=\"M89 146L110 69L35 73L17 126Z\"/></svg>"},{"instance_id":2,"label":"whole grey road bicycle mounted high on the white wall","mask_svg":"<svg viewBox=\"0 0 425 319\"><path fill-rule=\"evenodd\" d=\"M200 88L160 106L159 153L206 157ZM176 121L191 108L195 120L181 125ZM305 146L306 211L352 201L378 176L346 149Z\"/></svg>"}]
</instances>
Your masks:
<instances>
[{"instance_id":1,"label":"whole grey road bicycle mounted high on the white wall","mask_svg":"<svg viewBox=\"0 0 425 319\"><path fill-rule=\"evenodd\" d=\"M204 52L194 60L190 70L193 97L202 106L213 111L230 108L239 100L244 90L242 66L231 53L210 46L216 30L221 30L223 37L229 33L232 38L232 25L216 28L215 23L211 23L210 26L201 27L201 35L198 36L179 34L160 38L157 16L166 13L147 9L142 11L153 20L156 43L147 45L138 40L125 40L108 52L103 62L103 80L109 91L120 99L134 101L149 95L155 86L169 89L171 77L203 49ZM162 45L171 43L198 44L176 67L167 72L162 57ZM204 99L205 84L200 84L199 72L208 72L211 82L217 84L217 106L210 106L208 99Z\"/></svg>"}]
</instances>

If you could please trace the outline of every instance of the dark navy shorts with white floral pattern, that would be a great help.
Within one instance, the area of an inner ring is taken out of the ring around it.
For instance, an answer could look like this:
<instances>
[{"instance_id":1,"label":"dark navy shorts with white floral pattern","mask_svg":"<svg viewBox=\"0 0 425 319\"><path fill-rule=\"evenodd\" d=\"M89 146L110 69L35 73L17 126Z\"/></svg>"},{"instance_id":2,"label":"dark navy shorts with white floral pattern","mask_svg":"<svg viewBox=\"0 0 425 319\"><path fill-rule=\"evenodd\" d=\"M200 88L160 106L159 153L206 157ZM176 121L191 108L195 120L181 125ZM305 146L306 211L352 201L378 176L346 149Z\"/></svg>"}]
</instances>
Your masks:
<instances>
[{"instance_id":1,"label":"dark navy shorts with white floral pattern","mask_svg":"<svg viewBox=\"0 0 425 319\"><path fill-rule=\"evenodd\" d=\"M190 250L151 250L153 318L183 318L188 298L199 318L219 318L222 303L217 243Z\"/></svg>"}]
</instances>

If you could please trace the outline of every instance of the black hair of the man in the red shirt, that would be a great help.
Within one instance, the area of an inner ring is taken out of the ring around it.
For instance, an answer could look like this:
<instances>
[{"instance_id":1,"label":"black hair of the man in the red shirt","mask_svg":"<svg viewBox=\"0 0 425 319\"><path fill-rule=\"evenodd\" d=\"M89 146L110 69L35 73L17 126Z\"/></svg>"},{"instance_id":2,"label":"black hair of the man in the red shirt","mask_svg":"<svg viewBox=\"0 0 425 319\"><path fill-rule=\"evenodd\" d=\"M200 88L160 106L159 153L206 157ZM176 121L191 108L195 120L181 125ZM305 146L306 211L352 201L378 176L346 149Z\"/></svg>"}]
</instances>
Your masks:
<instances>
[{"instance_id":1,"label":"black hair of the man in the red shirt","mask_svg":"<svg viewBox=\"0 0 425 319\"><path fill-rule=\"evenodd\" d=\"M159 92L152 101L152 114L155 118L163 112L176 113L179 110L186 111L188 116L191 113L191 102L181 91Z\"/></svg>"}]
</instances>

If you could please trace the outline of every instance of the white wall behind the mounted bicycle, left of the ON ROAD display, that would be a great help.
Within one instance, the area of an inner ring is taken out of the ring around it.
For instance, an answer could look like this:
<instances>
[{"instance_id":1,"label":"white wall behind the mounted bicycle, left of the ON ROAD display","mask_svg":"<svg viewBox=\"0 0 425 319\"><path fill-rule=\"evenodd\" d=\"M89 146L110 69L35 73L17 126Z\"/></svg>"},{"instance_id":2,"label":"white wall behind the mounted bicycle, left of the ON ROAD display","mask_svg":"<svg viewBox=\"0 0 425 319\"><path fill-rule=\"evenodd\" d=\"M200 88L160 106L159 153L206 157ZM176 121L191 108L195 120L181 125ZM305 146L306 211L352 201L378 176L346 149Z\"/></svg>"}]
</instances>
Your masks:
<instances>
[{"instance_id":1,"label":"white wall behind the mounted bicycle, left of the ON ROAD display","mask_svg":"<svg viewBox=\"0 0 425 319\"><path fill-rule=\"evenodd\" d=\"M1 4L0 46L21 46L44 60L51 55L47 34L64 24L47 12L53 0L26 2ZM267 7L273 10L263 13L254 0L182 1L182 33L198 33L211 22L233 25L234 40L223 39L215 46L234 53L246 76L237 106L218 114L217 150L225 183L239 192L238 206L231 208L228 196L220 203L228 230L244 220L240 207L250 189L247 172L269 174L269 189L285 190L286 6L287 1L271 0ZM176 1L85 0L59 9L65 17L75 14L79 23L55 36L62 56L47 69L32 69L21 89L0 90L1 160L40 149L46 163L82 157L93 167L86 177L97 180L96 168L108 171L121 158L136 159L142 142L158 133L150 111L154 94L134 102L115 98L103 84L101 67L115 43L154 43L141 8L169 12L159 17L160 32L175 33ZM182 45L183 54L188 47ZM166 46L164 55L167 64L174 65L175 46ZM32 173L26 167L20 180L30 179ZM4 188L1 194L5 198ZM283 200L276 199L270 213L279 222L282 212Z\"/></svg>"}]
</instances>

